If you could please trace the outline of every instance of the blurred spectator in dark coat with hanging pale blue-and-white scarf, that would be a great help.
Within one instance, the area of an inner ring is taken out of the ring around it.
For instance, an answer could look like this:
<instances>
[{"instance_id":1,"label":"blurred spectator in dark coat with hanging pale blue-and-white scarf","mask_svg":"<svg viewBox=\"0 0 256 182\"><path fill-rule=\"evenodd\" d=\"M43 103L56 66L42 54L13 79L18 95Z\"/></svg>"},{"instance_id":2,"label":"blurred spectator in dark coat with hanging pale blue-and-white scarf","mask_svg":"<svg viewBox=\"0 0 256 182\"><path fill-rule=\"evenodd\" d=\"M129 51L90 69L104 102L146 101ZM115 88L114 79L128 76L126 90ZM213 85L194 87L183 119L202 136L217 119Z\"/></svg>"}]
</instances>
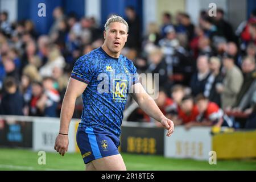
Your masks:
<instances>
[{"instance_id":1,"label":"blurred spectator in dark coat with hanging pale blue-and-white scarf","mask_svg":"<svg viewBox=\"0 0 256 182\"><path fill-rule=\"evenodd\" d=\"M222 84L223 76L220 73L221 61L218 57L210 57L210 76L207 79L204 89L204 96L209 98L209 101L221 106L221 96L217 92L217 85Z\"/></svg>"}]
</instances>

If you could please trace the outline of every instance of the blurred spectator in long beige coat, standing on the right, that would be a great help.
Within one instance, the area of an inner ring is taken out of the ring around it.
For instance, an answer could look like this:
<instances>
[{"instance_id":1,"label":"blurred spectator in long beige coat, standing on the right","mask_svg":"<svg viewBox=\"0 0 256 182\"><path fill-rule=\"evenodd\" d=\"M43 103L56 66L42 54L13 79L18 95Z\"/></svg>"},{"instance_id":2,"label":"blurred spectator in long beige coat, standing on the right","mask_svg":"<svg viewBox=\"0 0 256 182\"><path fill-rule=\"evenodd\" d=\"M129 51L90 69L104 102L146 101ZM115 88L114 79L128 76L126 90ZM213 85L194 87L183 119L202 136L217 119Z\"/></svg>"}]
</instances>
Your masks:
<instances>
[{"instance_id":1,"label":"blurred spectator in long beige coat, standing on the right","mask_svg":"<svg viewBox=\"0 0 256 182\"><path fill-rule=\"evenodd\" d=\"M236 102L237 94L242 86L243 76L240 69L234 64L233 56L226 53L223 57L223 65L226 69L226 75L223 85L217 86L217 92L221 93L222 109L228 109Z\"/></svg>"}]
</instances>

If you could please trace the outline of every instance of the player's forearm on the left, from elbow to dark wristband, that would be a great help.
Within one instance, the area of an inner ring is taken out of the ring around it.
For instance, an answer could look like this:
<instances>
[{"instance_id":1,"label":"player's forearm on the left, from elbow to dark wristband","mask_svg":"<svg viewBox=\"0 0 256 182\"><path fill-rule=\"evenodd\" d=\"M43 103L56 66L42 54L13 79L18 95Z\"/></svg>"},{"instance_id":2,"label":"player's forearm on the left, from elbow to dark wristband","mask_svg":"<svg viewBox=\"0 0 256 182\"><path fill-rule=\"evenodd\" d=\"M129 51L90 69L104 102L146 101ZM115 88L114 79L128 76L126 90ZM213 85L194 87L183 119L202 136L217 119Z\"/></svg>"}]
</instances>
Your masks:
<instances>
[{"instance_id":1,"label":"player's forearm on the left, from elbow to dark wristband","mask_svg":"<svg viewBox=\"0 0 256 182\"><path fill-rule=\"evenodd\" d=\"M76 98L64 96L60 112L60 133L68 134L69 123L75 110Z\"/></svg>"}]
</instances>

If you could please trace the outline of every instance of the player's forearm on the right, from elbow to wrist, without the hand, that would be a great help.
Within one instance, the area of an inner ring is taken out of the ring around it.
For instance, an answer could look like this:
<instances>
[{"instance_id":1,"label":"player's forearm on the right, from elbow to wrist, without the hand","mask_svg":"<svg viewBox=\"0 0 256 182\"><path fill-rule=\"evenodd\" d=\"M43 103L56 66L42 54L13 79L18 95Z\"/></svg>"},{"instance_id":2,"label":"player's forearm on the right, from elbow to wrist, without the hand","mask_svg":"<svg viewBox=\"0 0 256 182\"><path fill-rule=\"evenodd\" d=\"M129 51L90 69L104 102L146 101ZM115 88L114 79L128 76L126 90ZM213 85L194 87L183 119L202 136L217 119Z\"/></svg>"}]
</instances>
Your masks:
<instances>
[{"instance_id":1,"label":"player's forearm on the right, from elbow to wrist, without the hand","mask_svg":"<svg viewBox=\"0 0 256 182\"><path fill-rule=\"evenodd\" d=\"M156 121L160 122L161 119L164 118L164 114L148 94L144 94L141 100L138 100L138 105L147 115L154 118Z\"/></svg>"}]
</instances>

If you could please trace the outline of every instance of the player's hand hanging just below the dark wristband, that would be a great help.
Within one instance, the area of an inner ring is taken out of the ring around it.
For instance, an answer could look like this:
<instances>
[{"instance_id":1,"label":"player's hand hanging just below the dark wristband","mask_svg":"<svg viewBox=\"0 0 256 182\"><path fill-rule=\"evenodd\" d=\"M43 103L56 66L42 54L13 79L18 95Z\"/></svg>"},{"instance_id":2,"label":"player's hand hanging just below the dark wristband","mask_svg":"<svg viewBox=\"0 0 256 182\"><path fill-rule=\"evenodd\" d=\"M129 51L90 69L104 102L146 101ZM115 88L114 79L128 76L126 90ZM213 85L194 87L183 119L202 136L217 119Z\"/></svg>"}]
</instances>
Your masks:
<instances>
[{"instance_id":1,"label":"player's hand hanging just below the dark wristband","mask_svg":"<svg viewBox=\"0 0 256 182\"><path fill-rule=\"evenodd\" d=\"M68 151L68 135L57 135L54 150L64 156L65 152Z\"/></svg>"}]
</instances>

